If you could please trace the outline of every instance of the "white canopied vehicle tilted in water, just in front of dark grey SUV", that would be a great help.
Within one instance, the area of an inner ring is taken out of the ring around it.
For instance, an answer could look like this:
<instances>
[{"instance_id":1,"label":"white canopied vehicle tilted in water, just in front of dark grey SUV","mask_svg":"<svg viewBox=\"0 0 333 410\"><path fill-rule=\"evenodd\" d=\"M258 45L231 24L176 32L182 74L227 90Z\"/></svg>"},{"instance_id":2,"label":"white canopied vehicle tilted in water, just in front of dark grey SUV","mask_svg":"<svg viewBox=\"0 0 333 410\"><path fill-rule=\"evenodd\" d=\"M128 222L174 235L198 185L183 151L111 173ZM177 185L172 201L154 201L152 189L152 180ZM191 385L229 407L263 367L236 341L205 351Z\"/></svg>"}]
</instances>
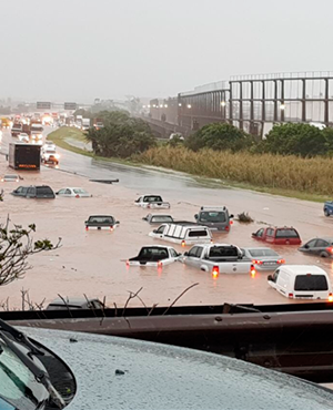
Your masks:
<instances>
[{"instance_id":1,"label":"white canopied vehicle tilted in water, just in front of dark grey SUV","mask_svg":"<svg viewBox=\"0 0 333 410\"><path fill-rule=\"evenodd\" d=\"M192 222L174 222L162 224L152 230L149 236L185 245L210 244L211 230L206 226L194 225Z\"/></svg>"}]
</instances>

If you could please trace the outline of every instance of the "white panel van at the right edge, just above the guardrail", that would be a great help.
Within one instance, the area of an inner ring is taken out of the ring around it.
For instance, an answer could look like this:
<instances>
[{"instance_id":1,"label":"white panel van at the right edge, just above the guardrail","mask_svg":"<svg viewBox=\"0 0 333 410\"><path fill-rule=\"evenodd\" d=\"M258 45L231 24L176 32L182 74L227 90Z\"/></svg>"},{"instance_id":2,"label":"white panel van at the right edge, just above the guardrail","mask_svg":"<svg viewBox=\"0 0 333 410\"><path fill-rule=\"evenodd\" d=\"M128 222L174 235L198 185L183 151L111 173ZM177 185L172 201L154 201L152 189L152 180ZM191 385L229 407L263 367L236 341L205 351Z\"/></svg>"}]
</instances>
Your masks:
<instances>
[{"instance_id":1,"label":"white panel van at the right edge, just above the guardrail","mask_svg":"<svg viewBox=\"0 0 333 410\"><path fill-rule=\"evenodd\" d=\"M333 301L330 277L315 265L284 265L270 275L268 280L286 298Z\"/></svg>"}]
</instances>

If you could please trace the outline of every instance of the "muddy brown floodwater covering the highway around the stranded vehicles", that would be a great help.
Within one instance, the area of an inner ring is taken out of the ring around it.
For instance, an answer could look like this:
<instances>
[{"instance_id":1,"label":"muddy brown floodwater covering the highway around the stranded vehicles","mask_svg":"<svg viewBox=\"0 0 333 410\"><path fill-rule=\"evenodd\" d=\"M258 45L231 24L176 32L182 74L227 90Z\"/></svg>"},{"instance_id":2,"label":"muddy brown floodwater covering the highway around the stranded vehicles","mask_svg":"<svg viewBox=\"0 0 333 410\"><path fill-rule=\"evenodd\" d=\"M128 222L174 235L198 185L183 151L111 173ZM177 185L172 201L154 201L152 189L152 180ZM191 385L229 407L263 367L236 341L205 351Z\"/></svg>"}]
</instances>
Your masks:
<instances>
[{"instance_id":1,"label":"muddy brown floodwater covering the highway around the stranded vehicles","mask_svg":"<svg viewBox=\"0 0 333 410\"><path fill-rule=\"evenodd\" d=\"M6 151L9 137L4 132L1 151ZM264 246L251 238L263 224L292 225L303 243L315 236L332 235L333 218L325 218L322 204L283 198L243 189L218 188L178 173L161 173L152 170L123 165L98 164L89 157L61 152L60 167L42 167L40 173L20 172L24 178L20 185L48 184L54 191L65 186L80 186L89 191L91 198L60 198L36 201L18 198L10 192L19 184L2 183L4 202L0 203L0 222L7 215L16 224L27 226L36 223L36 238L50 238L53 243L62 238L61 248L41 253L30 258L33 266L23 279L0 287L0 303L9 298L10 307L21 306L21 289L29 289L30 299L44 306L56 298L89 297L107 298L107 305L124 305L129 291L142 287L140 297L145 305L170 305L184 289L193 284L178 305L192 304L283 304L291 303L272 289L268 274L220 275L216 279L208 273L190 268L180 263L162 269L152 267L127 267L125 260L135 256L141 246L159 243L169 244L148 236L154 227L142 217L148 211L134 205L138 194L160 194L171 203L170 214L175 219L194 221L201 205L225 205L236 215L249 212L253 224L234 222L229 234L214 234L215 243L238 246ZM12 173L6 157L0 155L0 174ZM72 174L77 172L77 175ZM80 174L80 175L79 175ZM85 176L81 176L85 175ZM107 185L89 178L119 178L119 184ZM92 214L111 214L120 221L114 232L85 232L84 221ZM165 211L160 211L165 213ZM169 244L170 245L170 244ZM174 246L179 252L188 248ZM296 247L274 247L291 264L317 264L331 274L331 262L303 255ZM141 301L131 300L131 306Z\"/></svg>"}]
</instances>

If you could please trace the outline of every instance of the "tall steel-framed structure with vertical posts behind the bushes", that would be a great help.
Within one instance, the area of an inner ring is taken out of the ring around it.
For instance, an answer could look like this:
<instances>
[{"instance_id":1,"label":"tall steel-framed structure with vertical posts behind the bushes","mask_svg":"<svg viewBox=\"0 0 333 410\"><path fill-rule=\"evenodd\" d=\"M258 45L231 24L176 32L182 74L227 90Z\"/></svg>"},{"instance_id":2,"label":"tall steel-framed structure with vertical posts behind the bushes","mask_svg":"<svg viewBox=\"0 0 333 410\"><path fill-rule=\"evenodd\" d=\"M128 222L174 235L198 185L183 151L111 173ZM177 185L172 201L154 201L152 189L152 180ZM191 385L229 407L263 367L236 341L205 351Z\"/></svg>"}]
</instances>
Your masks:
<instances>
[{"instance_id":1,"label":"tall steel-framed structure with vertical posts behind the bushes","mask_svg":"<svg viewBox=\"0 0 333 410\"><path fill-rule=\"evenodd\" d=\"M213 122L261 137L276 123L333 126L333 72L231 76L173 99L152 100L147 120L165 130L172 124L186 135Z\"/></svg>"}]
</instances>

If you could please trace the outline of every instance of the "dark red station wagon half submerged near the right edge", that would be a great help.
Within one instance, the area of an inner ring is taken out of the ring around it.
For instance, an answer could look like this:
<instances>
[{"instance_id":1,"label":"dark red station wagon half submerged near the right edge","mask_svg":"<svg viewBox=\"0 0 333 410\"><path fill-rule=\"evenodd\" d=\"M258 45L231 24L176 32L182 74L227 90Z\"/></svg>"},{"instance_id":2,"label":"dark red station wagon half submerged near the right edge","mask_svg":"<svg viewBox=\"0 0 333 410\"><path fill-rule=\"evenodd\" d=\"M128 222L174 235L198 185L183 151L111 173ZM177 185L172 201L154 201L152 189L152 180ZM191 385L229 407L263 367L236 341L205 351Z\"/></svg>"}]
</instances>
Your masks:
<instances>
[{"instance_id":1,"label":"dark red station wagon half submerged near the right edge","mask_svg":"<svg viewBox=\"0 0 333 410\"><path fill-rule=\"evenodd\" d=\"M261 228L252 234L252 237L274 245L300 245L302 243L297 230L287 226Z\"/></svg>"}]
</instances>

